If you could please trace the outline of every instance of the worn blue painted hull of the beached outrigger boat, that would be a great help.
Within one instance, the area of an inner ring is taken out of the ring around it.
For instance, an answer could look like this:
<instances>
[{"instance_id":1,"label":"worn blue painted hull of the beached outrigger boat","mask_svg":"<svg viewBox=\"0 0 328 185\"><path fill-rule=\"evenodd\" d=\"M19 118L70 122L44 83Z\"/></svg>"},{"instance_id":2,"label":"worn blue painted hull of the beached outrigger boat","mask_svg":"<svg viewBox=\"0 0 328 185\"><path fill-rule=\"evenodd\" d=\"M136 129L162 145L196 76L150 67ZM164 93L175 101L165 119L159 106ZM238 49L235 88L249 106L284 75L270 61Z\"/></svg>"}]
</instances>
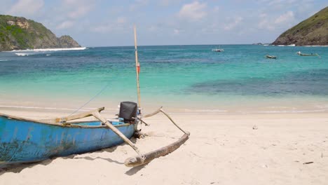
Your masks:
<instances>
[{"instance_id":1,"label":"worn blue painted hull of the beached outrigger boat","mask_svg":"<svg viewBox=\"0 0 328 185\"><path fill-rule=\"evenodd\" d=\"M133 124L116 125L116 128L128 138L135 132ZM121 143L121 137L100 121L62 125L0 115L1 165L96 151Z\"/></svg>"}]
</instances>

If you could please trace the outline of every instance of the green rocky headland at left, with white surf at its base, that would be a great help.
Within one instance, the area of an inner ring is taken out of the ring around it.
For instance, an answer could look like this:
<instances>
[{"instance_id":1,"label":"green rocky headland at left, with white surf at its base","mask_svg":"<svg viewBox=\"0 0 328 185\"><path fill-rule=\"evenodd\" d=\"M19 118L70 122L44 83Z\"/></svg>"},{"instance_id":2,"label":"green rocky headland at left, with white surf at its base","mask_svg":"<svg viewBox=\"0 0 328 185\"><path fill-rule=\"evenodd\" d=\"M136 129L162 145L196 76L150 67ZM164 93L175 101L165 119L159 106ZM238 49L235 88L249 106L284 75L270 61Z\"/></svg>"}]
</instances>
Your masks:
<instances>
[{"instance_id":1,"label":"green rocky headland at left, with white surf at its base","mask_svg":"<svg viewBox=\"0 0 328 185\"><path fill-rule=\"evenodd\" d=\"M57 38L39 22L0 15L0 51L81 47L71 36Z\"/></svg>"}]
</instances>

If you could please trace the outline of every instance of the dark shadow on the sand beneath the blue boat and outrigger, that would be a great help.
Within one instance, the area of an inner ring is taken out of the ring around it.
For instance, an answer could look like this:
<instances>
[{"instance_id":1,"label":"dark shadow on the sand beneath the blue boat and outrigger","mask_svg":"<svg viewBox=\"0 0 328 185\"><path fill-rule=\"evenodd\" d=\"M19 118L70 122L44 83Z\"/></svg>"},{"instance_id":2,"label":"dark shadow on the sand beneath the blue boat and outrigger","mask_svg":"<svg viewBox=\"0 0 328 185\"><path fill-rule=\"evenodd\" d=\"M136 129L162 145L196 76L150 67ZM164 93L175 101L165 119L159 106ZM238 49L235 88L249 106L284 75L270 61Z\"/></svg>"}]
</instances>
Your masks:
<instances>
[{"instance_id":1,"label":"dark shadow on the sand beneath the blue boat and outrigger","mask_svg":"<svg viewBox=\"0 0 328 185\"><path fill-rule=\"evenodd\" d=\"M136 143L137 139L132 138L131 139L132 143ZM125 144L120 144L118 146L123 146ZM11 165L0 165L0 176L2 174L6 174L8 172L13 172L13 173L20 173L22 170L26 169L26 168L32 168L36 165L49 165L50 163L53 163L53 160L56 160L57 158L62 158L65 160L76 160L76 159L85 159L85 160L96 160L96 159L102 159L102 160L106 160L109 163L116 163L119 165L123 165L123 162L117 161L117 160L113 160L111 158L103 158L103 157L91 157L90 155L88 156L79 156L81 154L90 154L90 153L102 153L102 152L108 152L108 153L112 153L114 151L116 151L116 149L118 148L118 146L113 146L107 149L101 149L98 151L93 151L93 152L88 152L88 153L80 153L80 154L73 154L70 156L63 156L63 157L53 157L47 160L42 160L39 162L32 162L32 163L17 163L17 164L11 164ZM146 164L145 164L146 165ZM139 170L141 170L145 165L141 165L141 166L137 166L137 167L132 167L130 168L130 170L128 170L127 172L125 172L125 174L128 175L133 175L136 172L138 172Z\"/></svg>"}]
</instances>

